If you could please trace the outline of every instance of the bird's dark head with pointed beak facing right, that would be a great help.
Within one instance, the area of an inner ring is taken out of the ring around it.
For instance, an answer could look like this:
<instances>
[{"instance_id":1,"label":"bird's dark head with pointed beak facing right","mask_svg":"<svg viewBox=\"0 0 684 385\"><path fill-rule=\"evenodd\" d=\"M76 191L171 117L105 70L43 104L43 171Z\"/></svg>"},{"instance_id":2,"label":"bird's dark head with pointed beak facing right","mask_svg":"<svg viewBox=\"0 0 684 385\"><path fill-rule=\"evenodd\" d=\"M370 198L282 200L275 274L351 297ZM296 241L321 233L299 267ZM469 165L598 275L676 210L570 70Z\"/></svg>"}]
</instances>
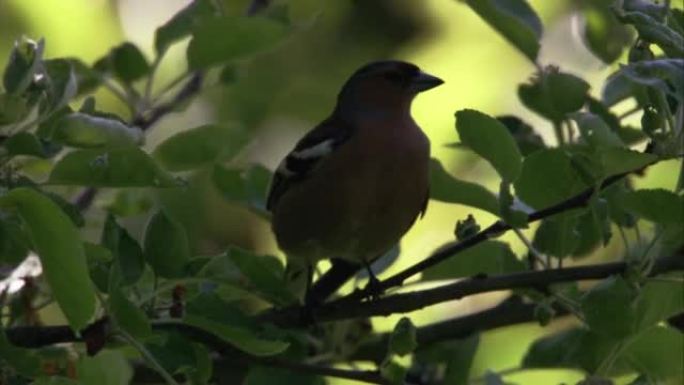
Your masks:
<instances>
[{"instance_id":1,"label":"bird's dark head with pointed beak facing right","mask_svg":"<svg viewBox=\"0 0 684 385\"><path fill-rule=\"evenodd\" d=\"M420 92L444 83L418 66L386 60L366 64L347 80L338 96L341 110L408 113Z\"/></svg>"}]
</instances>

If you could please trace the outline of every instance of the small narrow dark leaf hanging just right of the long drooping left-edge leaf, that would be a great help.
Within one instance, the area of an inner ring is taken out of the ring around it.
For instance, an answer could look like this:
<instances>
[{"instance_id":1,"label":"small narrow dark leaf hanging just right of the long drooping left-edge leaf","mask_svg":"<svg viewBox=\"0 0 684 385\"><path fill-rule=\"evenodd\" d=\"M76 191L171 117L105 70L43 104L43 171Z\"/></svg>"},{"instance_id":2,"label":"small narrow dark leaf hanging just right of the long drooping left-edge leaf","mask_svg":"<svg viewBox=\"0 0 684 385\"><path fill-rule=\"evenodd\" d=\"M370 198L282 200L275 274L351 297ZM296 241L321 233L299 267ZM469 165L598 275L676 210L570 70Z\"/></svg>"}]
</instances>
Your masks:
<instances>
[{"instance_id":1,"label":"small narrow dark leaf hanging just right of the long drooping left-edge leaf","mask_svg":"<svg viewBox=\"0 0 684 385\"><path fill-rule=\"evenodd\" d=\"M119 265L122 284L136 283L145 271L145 257L138 242L116 223L112 214L107 215L102 228L101 243L108 248Z\"/></svg>"}]
</instances>

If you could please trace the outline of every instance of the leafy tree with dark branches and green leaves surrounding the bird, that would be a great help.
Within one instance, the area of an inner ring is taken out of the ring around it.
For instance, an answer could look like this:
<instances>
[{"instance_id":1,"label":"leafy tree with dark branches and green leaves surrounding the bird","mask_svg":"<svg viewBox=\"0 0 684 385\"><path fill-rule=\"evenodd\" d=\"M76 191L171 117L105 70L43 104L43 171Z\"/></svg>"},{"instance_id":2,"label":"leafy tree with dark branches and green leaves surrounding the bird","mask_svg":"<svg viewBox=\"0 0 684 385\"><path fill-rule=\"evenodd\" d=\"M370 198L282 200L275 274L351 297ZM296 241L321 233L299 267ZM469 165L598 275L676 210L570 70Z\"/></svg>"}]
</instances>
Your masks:
<instances>
[{"instance_id":1,"label":"leafy tree with dark branches and green leaves surrounding the bird","mask_svg":"<svg viewBox=\"0 0 684 385\"><path fill-rule=\"evenodd\" d=\"M216 68L219 81L230 81L237 60L292 33L269 3L228 16L220 3L196 0L157 29L151 61L130 42L87 65L45 59L49 41L16 41L0 94L0 264L27 266L30 255L43 274L24 278L19 290L0 286L0 383L500 384L506 373L469 376L479 336L528 322L555 326L560 318L571 326L537 338L515 371L576 369L582 384L684 379L680 8L669 1L581 4L592 53L611 64L628 50L597 98L581 77L539 63L542 23L524 0L465 1L534 63L517 94L553 127L555 144L517 116L457 111L458 148L487 162L500 189L457 179L434 159L431 198L498 220L484 229L473 216L459 220L452 242L378 285L340 291L303 319L278 258L240 247L196 255L187 226L138 194L183 189L188 173L201 169L224 198L268 216L270 171L226 166L253 133L216 123L183 130L149 152L142 144L161 118L206 88ZM187 38L187 70L155 93L165 53ZM99 89L121 99L130 116L98 110ZM634 107L618 114L624 101ZM634 114L641 114L638 127L627 123ZM26 158L44 160L46 180L25 167ZM664 161L679 162L676 186L635 187L635 178ZM63 186L80 191L70 200ZM82 227L102 189L119 195L92 242ZM148 218L139 233L123 225L131 211ZM616 230L620 252L610 247ZM494 240L506 232L527 246L525 260L510 242ZM581 261L597 249L603 262ZM396 291L418 276L418 283L459 280ZM589 280L598 282L579 285ZM500 290L511 294L470 315L421 327L405 317L391 333L369 328L369 317ZM68 325L37 323L40 301L56 302ZM357 361L375 366L334 366Z\"/></svg>"}]
</instances>

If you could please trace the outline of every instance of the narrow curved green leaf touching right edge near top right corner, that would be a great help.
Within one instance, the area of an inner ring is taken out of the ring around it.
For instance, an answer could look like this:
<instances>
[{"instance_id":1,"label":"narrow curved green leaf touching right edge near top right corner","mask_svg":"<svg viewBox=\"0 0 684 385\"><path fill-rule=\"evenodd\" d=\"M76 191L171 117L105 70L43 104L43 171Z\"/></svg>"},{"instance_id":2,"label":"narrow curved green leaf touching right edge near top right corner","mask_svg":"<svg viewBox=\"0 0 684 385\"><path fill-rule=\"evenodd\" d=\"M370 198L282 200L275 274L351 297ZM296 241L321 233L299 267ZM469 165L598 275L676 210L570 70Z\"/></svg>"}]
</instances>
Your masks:
<instances>
[{"instance_id":1,"label":"narrow curved green leaf touching right edge near top right corner","mask_svg":"<svg viewBox=\"0 0 684 385\"><path fill-rule=\"evenodd\" d=\"M623 23L633 25L640 39L656 44L667 56L684 56L684 37L665 23L642 12L625 12L619 18Z\"/></svg>"}]
</instances>

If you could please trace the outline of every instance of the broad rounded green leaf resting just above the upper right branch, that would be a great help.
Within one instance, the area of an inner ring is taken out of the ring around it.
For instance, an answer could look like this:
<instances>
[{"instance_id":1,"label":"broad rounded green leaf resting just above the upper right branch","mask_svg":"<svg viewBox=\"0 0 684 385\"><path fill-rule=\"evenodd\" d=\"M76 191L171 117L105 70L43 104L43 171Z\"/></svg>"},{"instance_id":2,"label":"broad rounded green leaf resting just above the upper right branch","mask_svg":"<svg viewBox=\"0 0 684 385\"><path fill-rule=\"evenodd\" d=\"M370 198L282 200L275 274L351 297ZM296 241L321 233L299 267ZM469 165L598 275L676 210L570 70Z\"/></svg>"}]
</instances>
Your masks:
<instances>
[{"instance_id":1,"label":"broad rounded green leaf resting just above the upper right branch","mask_svg":"<svg viewBox=\"0 0 684 385\"><path fill-rule=\"evenodd\" d=\"M514 186L518 198L535 209L561 202L585 187L570 158L560 149L541 150L526 157Z\"/></svg>"}]
</instances>

